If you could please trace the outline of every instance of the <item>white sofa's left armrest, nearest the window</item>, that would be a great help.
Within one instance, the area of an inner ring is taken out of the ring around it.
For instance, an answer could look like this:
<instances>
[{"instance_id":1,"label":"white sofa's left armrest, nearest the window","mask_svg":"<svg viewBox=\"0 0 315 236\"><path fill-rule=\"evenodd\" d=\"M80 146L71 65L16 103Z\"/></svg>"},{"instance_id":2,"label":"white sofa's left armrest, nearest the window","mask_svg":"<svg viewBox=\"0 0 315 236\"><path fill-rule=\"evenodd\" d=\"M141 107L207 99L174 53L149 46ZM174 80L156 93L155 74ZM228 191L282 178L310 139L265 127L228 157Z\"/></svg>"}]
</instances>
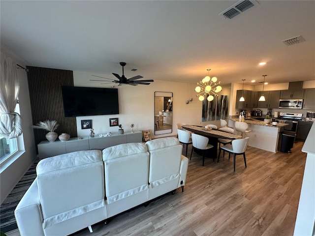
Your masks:
<instances>
[{"instance_id":1,"label":"white sofa's left armrest, nearest the window","mask_svg":"<svg viewBox=\"0 0 315 236\"><path fill-rule=\"evenodd\" d=\"M44 236L43 215L38 195L37 178L14 210L21 236Z\"/></svg>"}]
</instances>

